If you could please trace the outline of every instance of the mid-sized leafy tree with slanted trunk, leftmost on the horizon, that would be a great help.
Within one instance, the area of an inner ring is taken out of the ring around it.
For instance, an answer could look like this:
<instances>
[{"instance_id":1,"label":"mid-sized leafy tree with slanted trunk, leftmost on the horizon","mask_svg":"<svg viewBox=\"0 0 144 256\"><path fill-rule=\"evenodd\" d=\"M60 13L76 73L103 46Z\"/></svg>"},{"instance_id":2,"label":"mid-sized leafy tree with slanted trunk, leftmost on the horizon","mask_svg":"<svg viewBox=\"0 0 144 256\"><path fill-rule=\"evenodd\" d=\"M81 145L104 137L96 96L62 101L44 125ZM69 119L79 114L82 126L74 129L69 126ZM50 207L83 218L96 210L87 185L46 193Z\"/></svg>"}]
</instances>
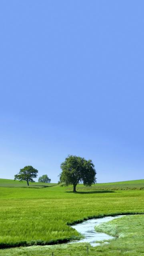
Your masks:
<instances>
[{"instance_id":1,"label":"mid-sized leafy tree with slanted trunk, leftmost on the horizon","mask_svg":"<svg viewBox=\"0 0 144 256\"><path fill-rule=\"evenodd\" d=\"M38 170L28 165L20 169L20 172L18 174L14 175L14 180L20 180L21 182L23 180L26 180L27 185L29 186L29 181L35 182L33 178L36 178L38 176L37 173L38 173Z\"/></svg>"}]
</instances>

